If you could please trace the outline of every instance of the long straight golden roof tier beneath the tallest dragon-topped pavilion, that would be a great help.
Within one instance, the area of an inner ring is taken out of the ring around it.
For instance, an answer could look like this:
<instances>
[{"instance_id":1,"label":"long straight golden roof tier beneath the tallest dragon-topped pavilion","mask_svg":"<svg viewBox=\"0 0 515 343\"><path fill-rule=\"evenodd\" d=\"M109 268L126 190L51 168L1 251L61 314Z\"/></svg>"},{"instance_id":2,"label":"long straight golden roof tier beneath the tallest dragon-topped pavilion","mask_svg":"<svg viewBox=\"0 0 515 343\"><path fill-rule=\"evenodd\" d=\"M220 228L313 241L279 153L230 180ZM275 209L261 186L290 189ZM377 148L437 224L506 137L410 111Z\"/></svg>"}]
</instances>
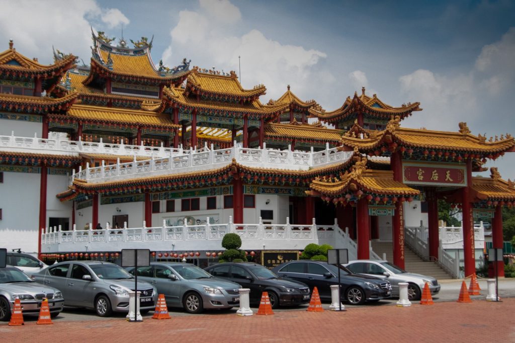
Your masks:
<instances>
[{"instance_id":1,"label":"long straight golden roof tier beneath the tallest dragon-topped pavilion","mask_svg":"<svg viewBox=\"0 0 515 343\"><path fill-rule=\"evenodd\" d=\"M68 116L90 121L148 125L157 127L179 128L169 115L161 115L148 111L106 108L88 105L74 105L68 110Z\"/></svg>"}]
</instances>

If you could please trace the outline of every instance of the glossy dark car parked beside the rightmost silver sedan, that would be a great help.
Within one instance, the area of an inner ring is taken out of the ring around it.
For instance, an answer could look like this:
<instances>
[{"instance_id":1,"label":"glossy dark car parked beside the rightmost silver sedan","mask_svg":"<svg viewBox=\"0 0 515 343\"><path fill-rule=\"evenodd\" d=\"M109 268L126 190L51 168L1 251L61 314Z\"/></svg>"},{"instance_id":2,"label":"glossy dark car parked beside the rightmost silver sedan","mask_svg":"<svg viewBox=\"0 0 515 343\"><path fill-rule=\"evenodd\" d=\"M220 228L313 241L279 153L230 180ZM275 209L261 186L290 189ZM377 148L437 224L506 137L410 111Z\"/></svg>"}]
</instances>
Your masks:
<instances>
[{"instance_id":1,"label":"glossy dark car parked beside the rightmost silver sedan","mask_svg":"<svg viewBox=\"0 0 515 343\"><path fill-rule=\"evenodd\" d=\"M338 284L338 267L325 261L290 261L272 268L272 271L279 276L303 282L311 289L317 287L322 300L331 300L331 285ZM353 274L344 266L340 266L340 283L341 300L347 300L352 305L391 296L390 282Z\"/></svg>"}]
</instances>

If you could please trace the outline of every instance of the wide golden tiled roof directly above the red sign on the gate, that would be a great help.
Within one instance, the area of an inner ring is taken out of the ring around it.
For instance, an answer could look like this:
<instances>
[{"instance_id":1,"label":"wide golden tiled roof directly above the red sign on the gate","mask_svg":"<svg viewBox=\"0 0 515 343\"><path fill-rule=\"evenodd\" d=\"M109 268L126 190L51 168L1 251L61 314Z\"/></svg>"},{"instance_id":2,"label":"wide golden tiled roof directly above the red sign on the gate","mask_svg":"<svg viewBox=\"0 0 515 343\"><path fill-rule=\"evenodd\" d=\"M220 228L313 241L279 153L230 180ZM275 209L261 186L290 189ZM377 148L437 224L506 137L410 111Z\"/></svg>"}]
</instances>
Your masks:
<instances>
[{"instance_id":1,"label":"wide golden tiled roof directly above the red sign on the gate","mask_svg":"<svg viewBox=\"0 0 515 343\"><path fill-rule=\"evenodd\" d=\"M489 142L483 136L472 135L468 129L461 131L407 129L398 127L397 123L397 127L389 124L385 130L376 134L371 133L366 139L342 136L341 143L350 147L358 147L360 151L371 150L382 145L385 140L397 142L399 146L404 147L479 153L502 152L515 146L515 140L509 135L506 138L503 136L501 140Z\"/></svg>"}]
</instances>

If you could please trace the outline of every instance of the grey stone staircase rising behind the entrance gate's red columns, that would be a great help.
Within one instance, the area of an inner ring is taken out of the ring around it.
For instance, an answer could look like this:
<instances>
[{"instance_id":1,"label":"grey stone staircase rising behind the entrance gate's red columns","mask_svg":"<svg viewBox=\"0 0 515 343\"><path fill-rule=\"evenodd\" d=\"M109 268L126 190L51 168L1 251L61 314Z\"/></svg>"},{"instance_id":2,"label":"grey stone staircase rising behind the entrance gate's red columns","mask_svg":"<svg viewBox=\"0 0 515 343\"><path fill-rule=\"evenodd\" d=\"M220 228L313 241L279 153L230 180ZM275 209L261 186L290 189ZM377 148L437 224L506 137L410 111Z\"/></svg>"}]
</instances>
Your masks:
<instances>
[{"instance_id":1,"label":"grey stone staircase rising behind the entrance gate's red columns","mask_svg":"<svg viewBox=\"0 0 515 343\"><path fill-rule=\"evenodd\" d=\"M372 241L372 249L383 258L386 253L386 261L393 263L393 243ZM404 246L404 270L412 273L432 276L437 280L452 279L445 270L443 270L436 262L424 261L415 252Z\"/></svg>"}]
</instances>

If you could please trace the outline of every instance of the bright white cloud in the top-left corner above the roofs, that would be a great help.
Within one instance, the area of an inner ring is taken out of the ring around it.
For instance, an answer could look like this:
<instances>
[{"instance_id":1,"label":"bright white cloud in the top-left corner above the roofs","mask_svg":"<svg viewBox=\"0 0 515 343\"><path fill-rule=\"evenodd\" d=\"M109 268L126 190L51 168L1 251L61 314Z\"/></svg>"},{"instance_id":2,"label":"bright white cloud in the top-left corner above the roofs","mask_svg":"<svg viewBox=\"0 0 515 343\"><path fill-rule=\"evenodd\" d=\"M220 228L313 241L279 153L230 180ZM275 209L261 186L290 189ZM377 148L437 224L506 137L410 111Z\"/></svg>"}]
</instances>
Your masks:
<instances>
[{"instance_id":1,"label":"bright white cloud in the top-left corner above the roofs","mask_svg":"<svg viewBox=\"0 0 515 343\"><path fill-rule=\"evenodd\" d=\"M102 9L94 0L1 0L0 8L0 44L7 49L12 38L20 53L41 63L52 63L52 45L88 63L90 26L128 24L119 10Z\"/></svg>"}]
</instances>

